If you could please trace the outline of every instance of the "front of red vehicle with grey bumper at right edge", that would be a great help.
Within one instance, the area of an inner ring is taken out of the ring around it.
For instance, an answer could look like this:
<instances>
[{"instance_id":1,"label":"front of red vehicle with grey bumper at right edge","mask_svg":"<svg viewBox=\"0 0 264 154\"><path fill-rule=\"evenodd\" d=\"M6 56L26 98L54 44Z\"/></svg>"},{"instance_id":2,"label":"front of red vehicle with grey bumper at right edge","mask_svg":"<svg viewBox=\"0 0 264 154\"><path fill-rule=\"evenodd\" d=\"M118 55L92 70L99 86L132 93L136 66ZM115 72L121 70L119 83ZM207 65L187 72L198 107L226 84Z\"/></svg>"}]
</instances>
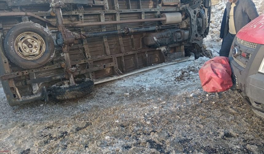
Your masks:
<instances>
[{"instance_id":1,"label":"front of red vehicle with grey bumper at right edge","mask_svg":"<svg viewBox=\"0 0 264 154\"><path fill-rule=\"evenodd\" d=\"M237 33L229 60L233 82L244 101L264 117L264 14Z\"/></svg>"}]
</instances>

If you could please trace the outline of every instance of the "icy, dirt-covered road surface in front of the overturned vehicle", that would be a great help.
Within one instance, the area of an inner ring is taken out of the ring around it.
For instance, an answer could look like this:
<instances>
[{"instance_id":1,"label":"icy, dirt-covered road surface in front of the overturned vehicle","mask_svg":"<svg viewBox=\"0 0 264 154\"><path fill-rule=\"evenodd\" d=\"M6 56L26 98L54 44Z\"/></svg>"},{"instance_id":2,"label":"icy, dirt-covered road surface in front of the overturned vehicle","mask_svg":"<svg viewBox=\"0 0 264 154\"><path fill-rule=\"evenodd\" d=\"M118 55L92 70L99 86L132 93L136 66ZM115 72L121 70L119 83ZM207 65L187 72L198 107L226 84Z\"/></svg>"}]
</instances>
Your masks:
<instances>
[{"instance_id":1,"label":"icy, dirt-covered road surface in front of the overturned vehicle","mask_svg":"<svg viewBox=\"0 0 264 154\"><path fill-rule=\"evenodd\" d=\"M200 58L95 86L87 97L10 107L1 153L263 153L263 118L235 91L207 94Z\"/></svg>"}]
</instances>

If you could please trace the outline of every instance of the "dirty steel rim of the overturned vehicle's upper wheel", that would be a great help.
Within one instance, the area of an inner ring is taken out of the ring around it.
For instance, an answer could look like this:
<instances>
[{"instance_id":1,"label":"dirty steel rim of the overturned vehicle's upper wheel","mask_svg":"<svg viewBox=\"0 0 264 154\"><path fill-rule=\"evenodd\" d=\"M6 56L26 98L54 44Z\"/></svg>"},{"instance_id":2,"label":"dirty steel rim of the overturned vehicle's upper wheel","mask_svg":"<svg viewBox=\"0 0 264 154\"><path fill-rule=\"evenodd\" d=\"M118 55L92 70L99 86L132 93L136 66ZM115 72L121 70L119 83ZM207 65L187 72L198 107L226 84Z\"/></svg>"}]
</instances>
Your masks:
<instances>
[{"instance_id":1,"label":"dirty steel rim of the overturned vehicle's upper wheel","mask_svg":"<svg viewBox=\"0 0 264 154\"><path fill-rule=\"evenodd\" d=\"M14 45L17 54L26 60L40 58L46 49L44 39L31 31L18 35Z\"/></svg>"}]
</instances>

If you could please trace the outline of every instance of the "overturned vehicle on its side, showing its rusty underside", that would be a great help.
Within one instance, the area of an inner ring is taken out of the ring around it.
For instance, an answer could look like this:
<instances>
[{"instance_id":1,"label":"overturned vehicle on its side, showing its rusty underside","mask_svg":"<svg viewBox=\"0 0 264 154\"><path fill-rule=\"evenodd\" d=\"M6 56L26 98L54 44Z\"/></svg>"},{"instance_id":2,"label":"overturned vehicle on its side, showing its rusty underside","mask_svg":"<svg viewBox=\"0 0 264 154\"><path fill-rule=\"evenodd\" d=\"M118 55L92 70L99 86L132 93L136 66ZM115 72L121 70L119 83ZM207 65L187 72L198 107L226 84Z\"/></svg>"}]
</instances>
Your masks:
<instances>
[{"instance_id":1,"label":"overturned vehicle on its side, showing its rusty underside","mask_svg":"<svg viewBox=\"0 0 264 154\"><path fill-rule=\"evenodd\" d=\"M94 82L205 52L210 0L2 0L9 105L78 98Z\"/></svg>"}]
</instances>

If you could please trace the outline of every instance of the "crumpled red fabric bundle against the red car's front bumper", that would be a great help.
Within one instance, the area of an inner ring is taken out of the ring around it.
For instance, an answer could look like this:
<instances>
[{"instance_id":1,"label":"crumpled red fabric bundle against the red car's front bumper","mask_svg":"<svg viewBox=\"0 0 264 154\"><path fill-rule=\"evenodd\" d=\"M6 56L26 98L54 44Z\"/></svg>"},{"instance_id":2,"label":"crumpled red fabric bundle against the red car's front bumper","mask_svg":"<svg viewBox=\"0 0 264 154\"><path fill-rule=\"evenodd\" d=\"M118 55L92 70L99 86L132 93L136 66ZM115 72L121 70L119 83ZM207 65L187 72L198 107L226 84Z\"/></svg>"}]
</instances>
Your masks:
<instances>
[{"instance_id":1,"label":"crumpled red fabric bundle against the red car's front bumper","mask_svg":"<svg viewBox=\"0 0 264 154\"><path fill-rule=\"evenodd\" d=\"M214 57L199 70L203 90L209 93L226 91L233 86L231 68L227 57Z\"/></svg>"}]
</instances>

